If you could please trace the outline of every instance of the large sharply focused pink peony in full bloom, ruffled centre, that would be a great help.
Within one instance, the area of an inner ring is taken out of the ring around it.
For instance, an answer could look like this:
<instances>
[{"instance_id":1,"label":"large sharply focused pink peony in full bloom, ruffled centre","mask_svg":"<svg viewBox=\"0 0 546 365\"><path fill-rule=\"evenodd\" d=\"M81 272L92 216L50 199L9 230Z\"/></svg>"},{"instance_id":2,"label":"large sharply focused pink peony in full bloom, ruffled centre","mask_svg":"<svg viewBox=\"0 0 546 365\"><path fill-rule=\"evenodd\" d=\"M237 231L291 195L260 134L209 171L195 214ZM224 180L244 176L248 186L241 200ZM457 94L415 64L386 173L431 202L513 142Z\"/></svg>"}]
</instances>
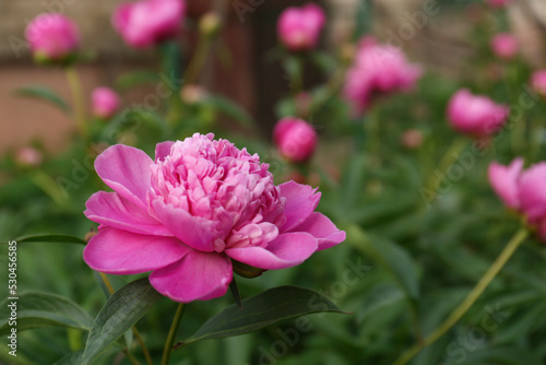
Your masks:
<instances>
[{"instance_id":1,"label":"large sharply focused pink peony in full bloom, ruffled centre","mask_svg":"<svg viewBox=\"0 0 546 365\"><path fill-rule=\"evenodd\" d=\"M320 193L273 185L268 164L213 134L157 144L155 161L114 145L95 161L115 191L94 193L85 215L99 223L83 251L112 274L152 271L150 283L177 302L222 296L241 263L276 270L304 262L345 233L314 212Z\"/></svg>"}]
</instances>

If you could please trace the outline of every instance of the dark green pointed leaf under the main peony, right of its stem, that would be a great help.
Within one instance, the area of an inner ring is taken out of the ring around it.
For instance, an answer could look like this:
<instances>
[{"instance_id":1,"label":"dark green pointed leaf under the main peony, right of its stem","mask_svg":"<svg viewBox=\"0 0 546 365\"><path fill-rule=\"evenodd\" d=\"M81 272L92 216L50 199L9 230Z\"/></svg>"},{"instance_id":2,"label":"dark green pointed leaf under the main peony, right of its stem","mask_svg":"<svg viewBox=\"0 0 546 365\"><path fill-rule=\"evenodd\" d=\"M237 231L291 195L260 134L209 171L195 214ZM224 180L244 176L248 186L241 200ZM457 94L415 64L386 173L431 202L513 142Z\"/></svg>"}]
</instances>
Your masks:
<instances>
[{"instance_id":1,"label":"dark green pointed leaf under the main peony, right of its stem","mask_svg":"<svg viewBox=\"0 0 546 365\"><path fill-rule=\"evenodd\" d=\"M242 306L244 310L237 305L224 309L182 343L249 333L285 319L313 313L344 313L319 293L297 286L270 289L246 298Z\"/></svg>"}]
</instances>

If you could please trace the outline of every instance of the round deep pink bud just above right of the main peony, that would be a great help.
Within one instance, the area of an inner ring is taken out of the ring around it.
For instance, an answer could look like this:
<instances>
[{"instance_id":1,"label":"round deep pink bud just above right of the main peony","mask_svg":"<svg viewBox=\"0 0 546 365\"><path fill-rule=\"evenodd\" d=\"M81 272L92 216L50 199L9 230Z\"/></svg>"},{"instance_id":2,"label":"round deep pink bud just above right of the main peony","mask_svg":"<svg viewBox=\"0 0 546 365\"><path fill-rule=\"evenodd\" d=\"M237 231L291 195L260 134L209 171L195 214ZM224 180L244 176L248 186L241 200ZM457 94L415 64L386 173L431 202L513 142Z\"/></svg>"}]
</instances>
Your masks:
<instances>
[{"instance_id":1,"label":"round deep pink bud just above right of the main peony","mask_svg":"<svg viewBox=\"0 0 546 365\"><path fill-rule=\"evenodd\" d=\"M317 148L317 132L307 121L287 117L273 129L273 141L284 157L292 162L305 162Z\"/></svg>"}]
</instances>

